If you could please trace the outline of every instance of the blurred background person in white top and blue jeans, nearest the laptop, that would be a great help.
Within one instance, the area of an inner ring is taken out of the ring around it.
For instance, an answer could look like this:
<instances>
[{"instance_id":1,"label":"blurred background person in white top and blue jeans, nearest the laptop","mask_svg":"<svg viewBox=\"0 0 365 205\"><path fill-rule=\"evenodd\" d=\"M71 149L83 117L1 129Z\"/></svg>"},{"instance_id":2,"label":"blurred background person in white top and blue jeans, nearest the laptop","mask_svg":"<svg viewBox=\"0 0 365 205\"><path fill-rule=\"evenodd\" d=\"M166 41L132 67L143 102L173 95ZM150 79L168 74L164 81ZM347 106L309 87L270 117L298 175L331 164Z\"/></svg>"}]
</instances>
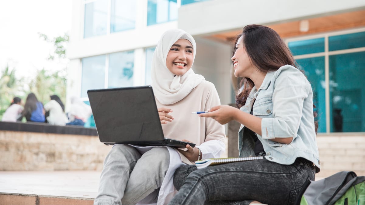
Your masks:
<instances>
[{"instance_id":1,"label":"blurred background person in white top and blue jeans, nearest the laptop","mask_svg":"<svg viewBox=\"0 0 365 205\"><path fill-rule=\"evenodd\" d=\"M71 108L67 116L70 120L67 125L81 125L84 126L85 122L91 116L90 105L85 104L79 97L71 97Z\"/></svg>"}]
</instances>

